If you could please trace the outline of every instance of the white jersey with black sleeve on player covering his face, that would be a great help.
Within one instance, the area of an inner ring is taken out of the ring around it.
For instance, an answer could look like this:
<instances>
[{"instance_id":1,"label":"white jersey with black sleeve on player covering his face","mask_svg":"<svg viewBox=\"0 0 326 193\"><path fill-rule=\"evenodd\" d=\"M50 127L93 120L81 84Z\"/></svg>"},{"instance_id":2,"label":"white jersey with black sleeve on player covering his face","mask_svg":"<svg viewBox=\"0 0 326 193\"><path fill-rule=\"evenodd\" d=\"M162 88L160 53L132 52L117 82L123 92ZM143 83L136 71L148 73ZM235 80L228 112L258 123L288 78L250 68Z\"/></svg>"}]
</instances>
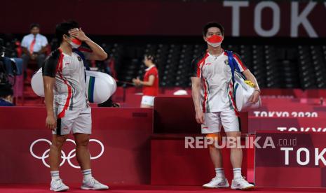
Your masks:
<instances>
[{"instance_id":1,"label":"white jersey with black sleeve on player covering his face","mask_svg":"<svg viewBox=\"0 0 326 193\"><path fill-rule=\"evenodd\" d=\"M88 106L83 59L76 52L67 55L57 49L43 64L43 76L55 78L54 106L57 117L66 110L83 110Z\"/></svg>"}]
</instances>

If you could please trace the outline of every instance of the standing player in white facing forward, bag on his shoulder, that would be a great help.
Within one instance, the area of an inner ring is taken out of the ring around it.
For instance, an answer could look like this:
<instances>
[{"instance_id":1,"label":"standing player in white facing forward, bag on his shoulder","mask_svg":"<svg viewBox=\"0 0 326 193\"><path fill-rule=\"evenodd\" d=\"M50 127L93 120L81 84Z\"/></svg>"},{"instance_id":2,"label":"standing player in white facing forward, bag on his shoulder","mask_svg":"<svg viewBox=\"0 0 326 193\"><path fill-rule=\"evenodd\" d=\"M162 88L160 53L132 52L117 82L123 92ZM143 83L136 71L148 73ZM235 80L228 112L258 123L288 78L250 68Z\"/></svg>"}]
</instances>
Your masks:
<instances>
[{"instance_id":1,"label":"standing player in white facing forward, bag on his shoulder","mask_svg":"<svg viewBox=\"0 0 326 193\"><path fill-rule=\"evenodd\" d=\"M208 43L208 49L191 62L192 97L196 110L196 121L201 124L203 134L219 136L221 126L223 126L226 136L240 137L240 119L232 94L231 68L228 56L221 48L224 28L221 24L210 22L203 27L203 38ZM260 90L256 78L243 64L239 55L234 52L233 59L245 78L254 83L255 91L250 97L250 101L257 103ZM215 166L216 176L203 187L229 187L229 182L224 176L221 151L214 145L210 146L210 157ZM235 190L254 188L241 174L242 150L232 148L230 159L233 166L231 188Z\"/></svg>"}]
</instances>

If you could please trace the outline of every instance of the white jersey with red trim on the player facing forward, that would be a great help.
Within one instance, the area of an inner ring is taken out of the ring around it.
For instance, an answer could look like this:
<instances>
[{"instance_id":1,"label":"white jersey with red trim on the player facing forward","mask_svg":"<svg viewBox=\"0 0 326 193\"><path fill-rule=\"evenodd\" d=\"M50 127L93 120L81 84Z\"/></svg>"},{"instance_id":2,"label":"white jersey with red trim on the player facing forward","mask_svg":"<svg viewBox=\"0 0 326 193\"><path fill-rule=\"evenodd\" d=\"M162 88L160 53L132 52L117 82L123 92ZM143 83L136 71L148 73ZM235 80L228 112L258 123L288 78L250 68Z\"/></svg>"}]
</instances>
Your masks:
<instances>
[{"instance_id":1,"label":"white jersey with red trim on the player facing forward","mask_svg":"<svg viewBox=\"0 0 326 193\"><path fill-rule=\"evenodd\" d=\"M239 55L234 52L233 58L238 64L240 72L247 69ZM193 59L191 76L201 78L201 108L203 113L236 110L236 103L232 95L231 68L226 52L217 57L205 52L200 57Z\"/></svg>"}]
</instances>

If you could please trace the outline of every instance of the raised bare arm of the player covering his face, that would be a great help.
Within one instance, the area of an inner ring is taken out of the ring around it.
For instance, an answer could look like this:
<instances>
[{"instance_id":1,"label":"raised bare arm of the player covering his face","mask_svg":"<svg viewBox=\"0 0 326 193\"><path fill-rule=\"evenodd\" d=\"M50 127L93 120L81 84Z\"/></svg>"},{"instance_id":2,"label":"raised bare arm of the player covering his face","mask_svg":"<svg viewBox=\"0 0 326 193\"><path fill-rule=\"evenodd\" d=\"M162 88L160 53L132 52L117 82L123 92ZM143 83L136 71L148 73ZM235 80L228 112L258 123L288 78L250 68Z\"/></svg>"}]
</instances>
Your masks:
<instances>
[{"instance_id":1,"label":"raised bare arm of the player covering his face","mask_svg":"<svg viewBox=\"0 0 326 193\"><path fill-rule=\"evenodd\" d=\"M74 38L78 38L80 41L85 42L92 52L90 53L88 59L90 60L104 60L107 59L107 53L104 52L104 50L101 48L100 45L97 45L97 43L93 42L86 34L79 29L79 31L76 31L74 29L69 31L69 34L73 36Z\"/></svg>"}]
</instances>

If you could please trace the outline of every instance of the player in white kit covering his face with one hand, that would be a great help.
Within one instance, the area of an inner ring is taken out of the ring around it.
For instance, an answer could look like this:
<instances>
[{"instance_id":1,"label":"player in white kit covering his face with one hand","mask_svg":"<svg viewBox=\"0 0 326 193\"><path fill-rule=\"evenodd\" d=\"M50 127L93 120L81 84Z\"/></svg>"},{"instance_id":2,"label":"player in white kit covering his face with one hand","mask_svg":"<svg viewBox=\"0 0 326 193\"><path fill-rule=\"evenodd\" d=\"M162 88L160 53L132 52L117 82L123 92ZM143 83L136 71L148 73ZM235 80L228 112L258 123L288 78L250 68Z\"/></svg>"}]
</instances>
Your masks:
<instances>
[{"instance_id":1,"label":"player in white kit covering his face with one hand","mask_svg":"<svg viewBox=\"0 0 326 193\"><path fill-rule=\"evenodd\" d=\"M60 47L43 64L43 83L46 101L46 127L53 130L50 146L50 190L69 190L59 177L62 145L70 133L76 142L76 158L83 173L84 190L105 190L92 176L88 142L92 129L91 110L86 96L83 59L104 60L107 53L88 38L76 22L57 24L55 35ZM90 49L79 49L81 42Z\"/></svg>"}]
</instances>

